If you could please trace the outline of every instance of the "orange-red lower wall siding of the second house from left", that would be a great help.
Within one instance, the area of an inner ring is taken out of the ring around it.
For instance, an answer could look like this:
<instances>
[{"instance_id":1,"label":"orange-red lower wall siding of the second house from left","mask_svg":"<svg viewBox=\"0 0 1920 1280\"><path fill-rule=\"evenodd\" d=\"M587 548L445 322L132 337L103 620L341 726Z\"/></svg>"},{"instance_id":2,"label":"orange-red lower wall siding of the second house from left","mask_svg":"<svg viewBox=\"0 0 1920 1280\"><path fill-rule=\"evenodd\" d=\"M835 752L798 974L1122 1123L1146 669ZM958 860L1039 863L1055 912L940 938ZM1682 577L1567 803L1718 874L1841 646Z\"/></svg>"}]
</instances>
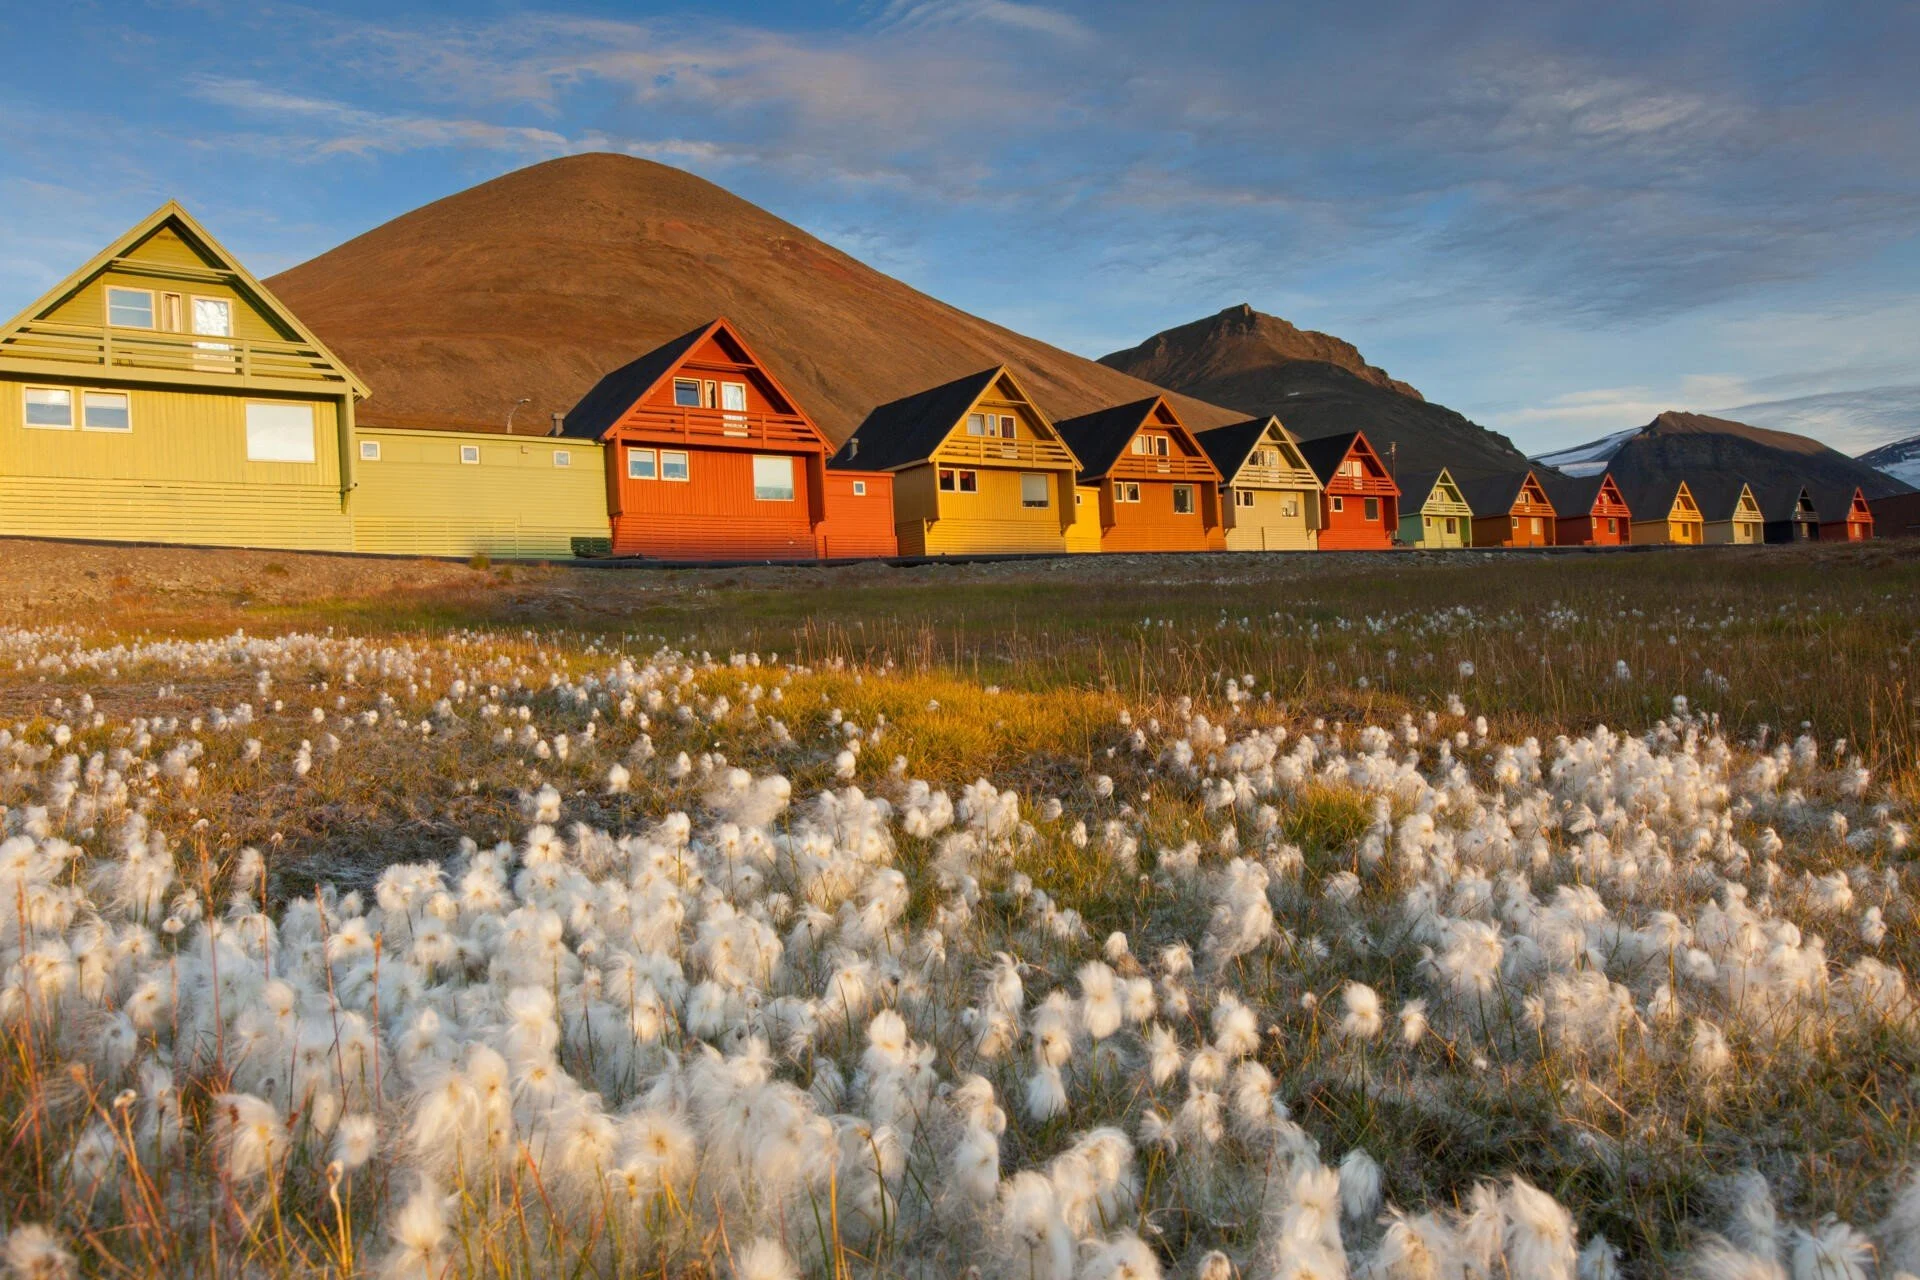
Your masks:
<instances>
[{"instance_id":1,"label":"orange-red lower wall siding of the second house from left","mask_svg":"<svg viewBox=\"0 0 1920 1280\"><path fill-rule=\"evenodd\" d=\"M607 451L620 493L620 509L611 512L614 555L666 560L810 560L818 555L820 455L770 455L793 459L793 499L762 501L753 495L753 453L685 449L687 480L680 482L630 480L630 451L628 445Z\"/></svg>"}]
</instances>

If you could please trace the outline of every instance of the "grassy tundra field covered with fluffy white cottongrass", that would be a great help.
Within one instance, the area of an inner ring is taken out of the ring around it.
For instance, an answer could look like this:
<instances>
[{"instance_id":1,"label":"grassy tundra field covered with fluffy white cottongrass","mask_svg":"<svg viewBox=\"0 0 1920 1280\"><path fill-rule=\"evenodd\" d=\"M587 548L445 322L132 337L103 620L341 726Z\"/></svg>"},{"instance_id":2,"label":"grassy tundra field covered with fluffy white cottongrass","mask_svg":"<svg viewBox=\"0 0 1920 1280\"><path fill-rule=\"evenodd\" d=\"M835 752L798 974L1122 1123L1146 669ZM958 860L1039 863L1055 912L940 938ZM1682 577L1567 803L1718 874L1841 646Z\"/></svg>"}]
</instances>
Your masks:
<instances>
[{"instance_id":1,"label":"grassy tundra field covered with fluffy white cottongrass","mask_svg":"<svg viewBox=\"0 0 1920 1280\"><path fill-rule=\"evenodd\" d=\"M19 1276L1920 1274L1920 549L0 543Z\"/></svg>"}]
</instances>

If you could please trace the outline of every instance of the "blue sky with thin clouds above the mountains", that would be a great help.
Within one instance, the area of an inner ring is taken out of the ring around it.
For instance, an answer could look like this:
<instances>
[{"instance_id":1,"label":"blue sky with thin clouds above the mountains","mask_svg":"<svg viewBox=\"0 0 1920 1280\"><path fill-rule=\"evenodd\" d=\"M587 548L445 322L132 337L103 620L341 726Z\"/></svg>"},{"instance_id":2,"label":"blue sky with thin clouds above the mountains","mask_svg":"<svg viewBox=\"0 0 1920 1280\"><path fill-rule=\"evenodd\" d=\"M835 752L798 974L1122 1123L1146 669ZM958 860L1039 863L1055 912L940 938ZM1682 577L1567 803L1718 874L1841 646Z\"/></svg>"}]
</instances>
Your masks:
<instances>
[{"instance_id":1,"label":"blue sky with thin clouds above the mountains","mask_svg":"<svg viewBox=\"0 0 1920 1280\"><path fill-rule=\"evenodd\" d=\"M1098 357L1229 305L1528 453L1920 434L1920 0L0 0L0 315L163 200L257 274L680 165Z\"/></svg>"}]
</instances>

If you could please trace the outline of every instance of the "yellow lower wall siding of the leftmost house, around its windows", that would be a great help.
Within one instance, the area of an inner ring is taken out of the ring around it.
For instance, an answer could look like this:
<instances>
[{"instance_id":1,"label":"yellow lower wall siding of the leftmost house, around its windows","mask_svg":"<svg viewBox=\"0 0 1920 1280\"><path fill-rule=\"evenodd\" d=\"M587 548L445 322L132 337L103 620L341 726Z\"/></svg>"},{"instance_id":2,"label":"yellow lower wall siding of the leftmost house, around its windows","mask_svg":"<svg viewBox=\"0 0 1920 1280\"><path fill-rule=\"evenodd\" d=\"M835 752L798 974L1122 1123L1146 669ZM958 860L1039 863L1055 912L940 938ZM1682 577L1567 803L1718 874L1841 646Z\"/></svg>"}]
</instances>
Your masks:
<instances>
[{"instance_id":1,"label":"yellow lower wall siding of the leftmost house, around its windows","mask_svg":"<svg viewBox=\"0 0 1920 1280\"><path fill-rule=\"evenodd\" d=\"M25 426L25 388L129 395L131 430ZM252 462L246 407L313 409L313 462ZM351 547L340 401L0 376L0 532L219 547Z\"/></svg>"}]
</instances>

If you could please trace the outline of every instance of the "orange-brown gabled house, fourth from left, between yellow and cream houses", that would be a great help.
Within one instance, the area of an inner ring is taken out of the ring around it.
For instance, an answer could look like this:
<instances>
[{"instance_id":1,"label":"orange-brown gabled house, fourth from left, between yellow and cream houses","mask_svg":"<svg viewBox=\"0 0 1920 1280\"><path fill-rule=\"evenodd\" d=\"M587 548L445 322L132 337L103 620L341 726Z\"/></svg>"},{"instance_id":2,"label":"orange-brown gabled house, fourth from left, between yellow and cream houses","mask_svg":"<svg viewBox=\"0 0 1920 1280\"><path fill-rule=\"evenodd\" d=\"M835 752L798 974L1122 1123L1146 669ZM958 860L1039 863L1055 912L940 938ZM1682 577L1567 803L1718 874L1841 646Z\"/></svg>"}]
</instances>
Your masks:
<instances>
[{"instance_id":1,"label":"orange-brown gabled house, fourth from left, between yellow and cream houses","mask_svg":"<svg viewBox=\"0 0 1920 1280\"><path fill-rule=\"evenodd\" d=\"M1054 422L1100 505L1100 551L1225 551L1219 468L1164 395Z\"/></svg>"}]
</instances>

